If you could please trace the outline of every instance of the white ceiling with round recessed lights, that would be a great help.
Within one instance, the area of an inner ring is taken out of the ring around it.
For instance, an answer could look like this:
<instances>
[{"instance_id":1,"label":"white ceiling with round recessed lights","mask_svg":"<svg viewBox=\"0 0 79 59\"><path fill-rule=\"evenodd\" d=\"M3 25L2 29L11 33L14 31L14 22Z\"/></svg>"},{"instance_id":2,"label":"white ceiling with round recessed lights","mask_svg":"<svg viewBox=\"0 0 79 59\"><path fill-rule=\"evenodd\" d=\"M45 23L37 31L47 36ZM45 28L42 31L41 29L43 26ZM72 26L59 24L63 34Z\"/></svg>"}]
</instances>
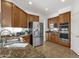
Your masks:
<instances>
[{"instance_id":1,"label":"white ceiling with round recessed lights","mask_svg":"<svg viewBox=\"0 0 79 59\"><path fill-rule=\"evenodd\" d=\"M31 0L32 5L29 5L29 0L14 1L21 4L25 9L41 15L51 15L57 12L59 9L71 5L71 0L66 0L65 2L61 2L61 0ZM49 10L45 11L45 8L48 8Z\"/></svg>"}]
</instances>

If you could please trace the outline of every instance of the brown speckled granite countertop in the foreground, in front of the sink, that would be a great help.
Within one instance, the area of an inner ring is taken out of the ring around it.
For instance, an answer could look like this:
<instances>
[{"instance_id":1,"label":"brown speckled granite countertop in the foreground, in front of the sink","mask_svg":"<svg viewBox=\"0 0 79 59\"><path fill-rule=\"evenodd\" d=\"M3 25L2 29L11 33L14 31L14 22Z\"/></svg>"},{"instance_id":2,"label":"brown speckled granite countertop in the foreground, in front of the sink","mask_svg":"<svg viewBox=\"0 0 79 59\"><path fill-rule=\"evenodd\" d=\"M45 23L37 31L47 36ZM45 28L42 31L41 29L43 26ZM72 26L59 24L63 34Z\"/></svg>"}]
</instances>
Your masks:
<instances>
[{"instance_id":1,"label":"brown speckled granite countertop in the foreground, in front of the sink","mask_svg":"<svg viewBox=\"0 0 79 59\"><path fill-rule=\"evenodd\" d=\"M0 58L45 58L30 44L25 48L0 48Z\"/></svg>"}]
</instances>

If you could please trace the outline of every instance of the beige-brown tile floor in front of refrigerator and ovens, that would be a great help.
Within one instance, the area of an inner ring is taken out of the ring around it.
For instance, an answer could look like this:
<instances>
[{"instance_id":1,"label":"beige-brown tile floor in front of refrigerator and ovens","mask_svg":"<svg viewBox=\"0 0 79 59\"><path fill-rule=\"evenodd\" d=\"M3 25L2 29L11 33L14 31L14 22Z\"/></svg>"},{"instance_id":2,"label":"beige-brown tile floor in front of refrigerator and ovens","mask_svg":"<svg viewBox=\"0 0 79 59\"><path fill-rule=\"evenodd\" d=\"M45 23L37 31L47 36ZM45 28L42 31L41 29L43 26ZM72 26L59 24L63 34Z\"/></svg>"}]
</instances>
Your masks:
<instances>
[{"instance_id":1,"label":"beige-brown tile floor in front of refrigerator and ovens","mask_svg":"<svg viewBox=\"0 0 79 59\"><path fill-rule=\"evenodd\" d=\"M46 58L79 58L71 49L48 41L36 49L41 51Z\"/></svg>"}]
</instances>

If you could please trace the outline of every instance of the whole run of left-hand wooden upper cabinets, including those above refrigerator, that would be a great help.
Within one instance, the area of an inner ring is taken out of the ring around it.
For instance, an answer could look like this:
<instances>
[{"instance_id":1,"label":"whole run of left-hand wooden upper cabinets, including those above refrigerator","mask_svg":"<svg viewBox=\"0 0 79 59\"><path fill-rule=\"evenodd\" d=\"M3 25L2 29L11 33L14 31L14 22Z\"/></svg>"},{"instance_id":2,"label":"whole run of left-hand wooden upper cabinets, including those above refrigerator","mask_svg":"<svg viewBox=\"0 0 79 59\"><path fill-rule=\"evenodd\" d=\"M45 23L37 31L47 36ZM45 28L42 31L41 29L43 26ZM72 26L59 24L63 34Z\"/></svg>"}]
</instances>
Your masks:
<instances>
[{"instance_id":1,"label":"whole run of left-hand wooden upper cabinets, including those above refrigerator","mask_svg":"<svg viewBox=\"0 0 79 59\"><path fill-rule=\"evenodd\" d=\"M39 16L27 14L22 9L6 0L2 4L3 27L29 27L29 22L39 21Z\"/></svg>"}]
</instances>

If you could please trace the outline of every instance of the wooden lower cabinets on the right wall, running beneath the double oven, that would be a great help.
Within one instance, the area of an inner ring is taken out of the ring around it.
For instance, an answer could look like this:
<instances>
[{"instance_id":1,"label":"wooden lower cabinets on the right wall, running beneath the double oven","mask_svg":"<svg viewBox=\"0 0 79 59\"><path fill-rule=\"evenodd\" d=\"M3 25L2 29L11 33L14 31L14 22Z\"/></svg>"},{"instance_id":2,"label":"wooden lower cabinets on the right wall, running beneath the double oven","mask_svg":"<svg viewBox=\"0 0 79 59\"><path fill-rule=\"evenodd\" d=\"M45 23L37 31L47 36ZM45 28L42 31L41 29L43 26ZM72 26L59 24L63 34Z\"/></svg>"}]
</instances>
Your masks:
<instances>
[{"instance_id":1,"label":"wooden lower cabinets on the right wall, running beneath the double oven","mask_svg":"<svg viewBox=\"0 0 79 59\"><path fill-rule=\"evenodd\" d=\"M60 44L62 46L65 46L65 47L69 47L70 48L70 43L68 42L63 42L58 35L52 33L52 32L49 32L48 33L48 41L50 42L53 42L53 43L57 43L57 44Z\"/></svg>"}]
</instances>

